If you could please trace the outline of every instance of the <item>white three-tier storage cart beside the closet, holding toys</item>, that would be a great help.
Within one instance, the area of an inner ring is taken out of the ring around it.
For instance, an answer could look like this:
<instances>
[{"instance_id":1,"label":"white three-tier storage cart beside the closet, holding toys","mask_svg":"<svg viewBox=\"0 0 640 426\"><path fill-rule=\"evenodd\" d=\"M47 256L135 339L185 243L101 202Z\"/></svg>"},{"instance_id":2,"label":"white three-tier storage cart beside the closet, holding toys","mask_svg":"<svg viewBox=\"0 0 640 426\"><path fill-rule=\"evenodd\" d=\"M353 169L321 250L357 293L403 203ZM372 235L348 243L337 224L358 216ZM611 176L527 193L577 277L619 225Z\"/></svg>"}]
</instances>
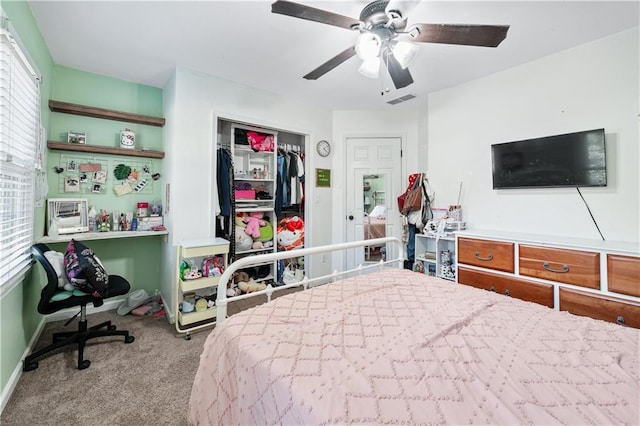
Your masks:
<instances>
[{"instance_id":1,"label":"white three-tier storage cart beside the closet, holding toys","mask_svg":"<svg viewBox=\"0 0 640 426\"><path fill-rule=\"evenodd\" d=\"M183 241L178 245L175 280L175 312L177 312L175 326L178 333L185 333L185 339L190 339L190 332L215 324L216 307L204 310L194 309L192 312L182 312L181 305L184 294L194 292L196 295L208 295L215 300L219 276L201 277L196 279L182 279L180 265L183 261L193 262L198 269L202 261L213 256L224 258L224 268L228 265L229 241L224 238L206 238ZM202 272L202 271L201 271Z\"/></svg>"}]
</instances>

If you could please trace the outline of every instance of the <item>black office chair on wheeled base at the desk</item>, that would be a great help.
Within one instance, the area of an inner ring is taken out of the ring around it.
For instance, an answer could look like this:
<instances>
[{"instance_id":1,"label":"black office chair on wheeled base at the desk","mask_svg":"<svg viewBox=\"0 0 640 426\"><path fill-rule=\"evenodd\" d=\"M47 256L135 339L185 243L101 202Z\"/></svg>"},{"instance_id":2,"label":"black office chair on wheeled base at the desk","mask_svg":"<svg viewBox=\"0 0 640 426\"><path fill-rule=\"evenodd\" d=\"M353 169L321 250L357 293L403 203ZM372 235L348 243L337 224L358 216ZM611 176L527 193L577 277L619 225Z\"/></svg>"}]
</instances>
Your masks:
<instances>
[{"instance_id":1,"label":"black office chair on wheeled base at the desk","mask_svg":"<svg viewBox=\"0 0 640 426\"><path fill-rule=\"evenodd\" d=\"M49 251L49 247L45 244L35 244L31 247L31 254L34 258L40 262L45 272L47 273L47 285L42 289L40 293L40 302L38 303L38 312L43 315L52 314L61 309L80 307L80 312L71 317L65 324L68 325L71 321L80 315L80 322L78 323L78 331L65 331L61 333L54 333L53 343L45 348L36 351L24 359L22 366L23 371L31 371L38 368L37 358L44 354L47 354L55 349L61 348L66 345L78 345L78 370L84 370L89 368L91 361L84 359L84 347L87 340L95 337L104 336L124 336L125 343L131 343L135 340L133 336L129 335L126 330L116 330L116 326L111 324L111 321L105 321L93 327L87 327L87 304L93 303L93 306L99 307L104 304L103 299L108 299L114 296L121 296L127 294L130 289L129 282L118 275L109 275L109 290L106 296L103 298L94 297L91 295L84 296L71 296L68 299L52 301L51 297L60 291L58 287L58 276L55 269L49 263L44 253ZM105 329L106 330L103 330Z\"/></svg>"}]
</instances>

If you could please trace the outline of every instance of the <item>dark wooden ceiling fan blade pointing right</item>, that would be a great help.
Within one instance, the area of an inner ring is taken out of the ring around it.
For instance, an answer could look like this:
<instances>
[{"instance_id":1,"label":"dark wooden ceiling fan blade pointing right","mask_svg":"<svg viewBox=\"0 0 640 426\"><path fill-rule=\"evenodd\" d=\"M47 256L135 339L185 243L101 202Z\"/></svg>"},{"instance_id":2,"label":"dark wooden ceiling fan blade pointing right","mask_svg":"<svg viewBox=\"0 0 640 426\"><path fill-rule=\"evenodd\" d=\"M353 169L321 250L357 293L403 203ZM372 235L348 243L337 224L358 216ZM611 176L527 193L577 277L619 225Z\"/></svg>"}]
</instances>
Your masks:
<instances>
[{"instance_id":1,"label":"dark wooden ceiling fan blade pointing right","mask_svg":"<svg viewBox=\"0 0 640 426\"><path fill-rule=\"evenodd\" d=\"M408 32L413 41L423 43L497 47L508 30L509 25L416 24Z\"/></svg>"}]
</instances>

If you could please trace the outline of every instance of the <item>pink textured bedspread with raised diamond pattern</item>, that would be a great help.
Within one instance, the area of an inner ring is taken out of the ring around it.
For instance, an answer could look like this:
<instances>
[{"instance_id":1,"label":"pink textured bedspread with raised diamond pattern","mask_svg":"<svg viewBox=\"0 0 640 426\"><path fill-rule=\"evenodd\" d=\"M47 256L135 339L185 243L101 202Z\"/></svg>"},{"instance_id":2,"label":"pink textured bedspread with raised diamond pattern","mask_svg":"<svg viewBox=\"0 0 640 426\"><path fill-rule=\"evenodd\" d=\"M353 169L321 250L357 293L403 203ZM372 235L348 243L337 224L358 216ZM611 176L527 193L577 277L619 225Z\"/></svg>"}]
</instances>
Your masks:
<instances>
[{"instance_id":1,"label":"pink textured bedspread with raised diamond pattern","mask_svg":"<svg viewBox=\"0 0 640 426\"><path fill-rule=\"evenodd\" d=\"M637 425L639 342L637 329L388 270L216 327L189 421Z\"/></svg>"}]
</instances>

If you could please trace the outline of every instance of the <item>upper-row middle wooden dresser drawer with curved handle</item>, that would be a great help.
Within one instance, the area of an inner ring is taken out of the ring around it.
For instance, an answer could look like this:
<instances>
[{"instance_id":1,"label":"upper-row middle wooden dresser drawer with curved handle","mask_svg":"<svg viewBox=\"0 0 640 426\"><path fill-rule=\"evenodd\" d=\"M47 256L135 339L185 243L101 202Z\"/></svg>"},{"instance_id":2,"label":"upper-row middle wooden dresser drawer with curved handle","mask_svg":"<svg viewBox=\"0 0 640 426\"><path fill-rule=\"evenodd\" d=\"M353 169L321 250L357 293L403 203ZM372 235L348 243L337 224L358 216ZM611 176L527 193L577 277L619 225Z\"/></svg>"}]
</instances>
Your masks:
<instances>
[{"instance_id":1,"label":"upper-row middle wooden dresser drawer with curved handle","mask_svg":"<svg viewBox=\"0 0 640 426\"><path fill-rule=\"evenodd\" d=\"M600 289L600 254L520 246L520 275Z\"/></svg>"}]
</instances>

